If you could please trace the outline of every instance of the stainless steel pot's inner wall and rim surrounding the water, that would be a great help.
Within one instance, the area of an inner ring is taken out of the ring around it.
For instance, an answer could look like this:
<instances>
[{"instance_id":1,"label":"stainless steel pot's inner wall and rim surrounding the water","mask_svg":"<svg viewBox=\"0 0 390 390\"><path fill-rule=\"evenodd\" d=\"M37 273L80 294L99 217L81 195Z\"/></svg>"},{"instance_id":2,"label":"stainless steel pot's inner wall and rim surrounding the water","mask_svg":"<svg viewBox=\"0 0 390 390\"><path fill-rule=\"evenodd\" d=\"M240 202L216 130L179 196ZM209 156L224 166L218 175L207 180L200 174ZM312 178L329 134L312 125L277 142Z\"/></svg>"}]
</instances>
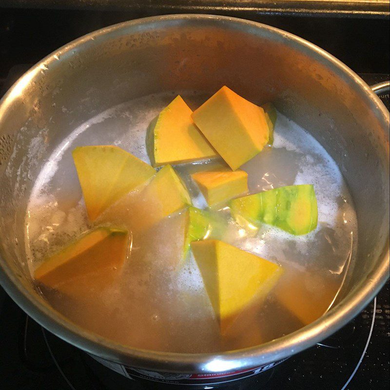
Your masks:
<instances>
[{"instance_id":1,"label":"stainless steel pot's inner wall and rim surrounding the water","mask_svg":"<svg viewBox=\"0 0 390 390\"><path fill-rule=\"evenodd\" d=\"M356 266L337 304L309 326L220 354L143 351L80 329L37 293L26 269L24 213L39 168L79 124L147 94L227 84L273 101L339 165L354 198ZM67 112L61 107L66 105ZM207 15L134 20L88 34L40 61L0 104L0 281L42 326L93 355L146 370L212 373L282 360L338 330L389 276L389 112L356 74L310 42L263 24Z\"/></svg>"}]
</instances>

